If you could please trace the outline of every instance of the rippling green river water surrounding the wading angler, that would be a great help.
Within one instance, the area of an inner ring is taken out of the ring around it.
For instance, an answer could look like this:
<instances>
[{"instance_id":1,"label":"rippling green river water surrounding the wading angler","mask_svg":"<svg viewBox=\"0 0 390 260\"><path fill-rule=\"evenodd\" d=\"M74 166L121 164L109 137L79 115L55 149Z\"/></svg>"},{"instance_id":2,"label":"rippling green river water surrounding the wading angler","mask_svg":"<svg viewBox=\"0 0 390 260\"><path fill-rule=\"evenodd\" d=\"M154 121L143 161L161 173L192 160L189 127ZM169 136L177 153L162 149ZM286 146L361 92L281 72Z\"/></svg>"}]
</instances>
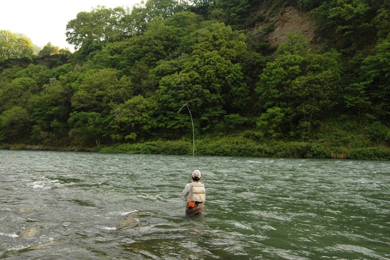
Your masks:
<instances>
[{"instance_id":1,"label":"rippling green river water surrounding the wading angler","mask_svg":"<svg viewBox=\"0 0 390 260\"><path fill-rule=\"evenodd\" d=\"M206 211L180 197L202 172ZM390 259L388 161L0 150L0 259Z\"/></svg>"}]
</instances>

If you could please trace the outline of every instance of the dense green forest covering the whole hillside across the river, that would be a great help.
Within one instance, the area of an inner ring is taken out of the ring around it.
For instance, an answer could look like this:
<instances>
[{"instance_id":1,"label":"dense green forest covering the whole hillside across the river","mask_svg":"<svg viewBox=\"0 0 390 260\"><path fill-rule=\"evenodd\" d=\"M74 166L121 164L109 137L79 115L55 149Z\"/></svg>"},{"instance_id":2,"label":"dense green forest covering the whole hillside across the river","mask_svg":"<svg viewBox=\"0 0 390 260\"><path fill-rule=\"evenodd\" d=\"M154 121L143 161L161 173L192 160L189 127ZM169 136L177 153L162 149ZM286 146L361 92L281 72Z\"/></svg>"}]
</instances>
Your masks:
<instances>
[{"instance_id":1,"label":"dense green forest covering the whole hillside across the river","mask_svg":"<svg viewBox=\"0 0 390 260\"><path fill-rule=\"evenodd\" d=\"M315 37L273 46L287 8ZM148 0L64 34L0 28L0 148L390 159L389 0Z\"/></svg>"}]
</instances>

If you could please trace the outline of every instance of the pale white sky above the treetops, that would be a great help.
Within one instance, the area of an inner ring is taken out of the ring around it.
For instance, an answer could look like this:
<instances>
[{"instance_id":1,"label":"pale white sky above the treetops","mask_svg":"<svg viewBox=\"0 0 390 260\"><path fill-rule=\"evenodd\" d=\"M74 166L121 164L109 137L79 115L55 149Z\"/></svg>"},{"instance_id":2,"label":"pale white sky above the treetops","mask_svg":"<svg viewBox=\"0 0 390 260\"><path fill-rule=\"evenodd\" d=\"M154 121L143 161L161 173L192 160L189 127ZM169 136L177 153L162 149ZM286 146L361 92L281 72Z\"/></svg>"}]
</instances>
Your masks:
<instances>
[{"instance_id":1,"label":"pale white sky above the treetops","mask_svg":"<svg viewBox=\"0 0 390 260\"><path fill-rule=\"evenodd\" d=\"M141 0L8 0L2 1L0 30L23 34L32 44L43 47L47 43L59 48L69 48L65 35L67 24L76 19L79 12L90 12L97 6L114 8L132 7Z\"/></svg>"}]
</instances>

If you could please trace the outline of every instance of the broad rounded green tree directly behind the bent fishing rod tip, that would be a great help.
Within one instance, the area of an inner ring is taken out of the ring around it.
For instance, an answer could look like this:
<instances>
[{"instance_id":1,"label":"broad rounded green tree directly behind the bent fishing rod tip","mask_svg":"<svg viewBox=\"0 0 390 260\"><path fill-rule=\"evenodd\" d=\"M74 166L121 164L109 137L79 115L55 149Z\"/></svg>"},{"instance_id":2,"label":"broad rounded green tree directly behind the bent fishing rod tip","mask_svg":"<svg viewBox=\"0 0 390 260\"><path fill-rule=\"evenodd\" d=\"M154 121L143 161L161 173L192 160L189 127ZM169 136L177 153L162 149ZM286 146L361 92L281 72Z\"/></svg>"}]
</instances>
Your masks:
<instances>
[{"instance_id":1,"label":"broad rounded green tree directly behind the bent fishing rod tip","mask_svg":"<svg viewBox=\"0 0 390 260\"><path fill-rule=\"evenodd\" d=\"M159 81L156 95L165 115L164 127L179 129L188 125L188 118L177 111L190 100L205 102L191 105L192 115L200 119L203 129L212 128L226 111L240 111L248 100L242 79L239 64L232 64L216 51L189 57L182 71Z\"/></svg>"}]
</instances>

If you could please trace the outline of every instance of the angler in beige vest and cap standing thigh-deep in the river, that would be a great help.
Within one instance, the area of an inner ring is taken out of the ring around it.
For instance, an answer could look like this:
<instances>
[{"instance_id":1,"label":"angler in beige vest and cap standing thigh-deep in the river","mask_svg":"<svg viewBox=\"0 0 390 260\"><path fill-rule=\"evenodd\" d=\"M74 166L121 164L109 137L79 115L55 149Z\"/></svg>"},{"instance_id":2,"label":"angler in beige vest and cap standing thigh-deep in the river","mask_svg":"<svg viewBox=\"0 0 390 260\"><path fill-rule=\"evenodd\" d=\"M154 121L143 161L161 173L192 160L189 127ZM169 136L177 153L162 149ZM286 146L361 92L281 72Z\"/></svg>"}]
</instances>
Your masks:
<instances>
[{"instance_id":1,"label":"angler in beige vest and cap standing thigh-deep in the river","mask_svg":"<svg viewBox=\"0 0 390 260\"><path fill-rule=\"evenodd\" d=\"M185 207L186 215L195 215L205 211L204 202L206 201L205 185L200 182L201 172L195 170L191 174L192 182L185 185L181 195L187 201Z\"/></svg>"}]
</instances>

